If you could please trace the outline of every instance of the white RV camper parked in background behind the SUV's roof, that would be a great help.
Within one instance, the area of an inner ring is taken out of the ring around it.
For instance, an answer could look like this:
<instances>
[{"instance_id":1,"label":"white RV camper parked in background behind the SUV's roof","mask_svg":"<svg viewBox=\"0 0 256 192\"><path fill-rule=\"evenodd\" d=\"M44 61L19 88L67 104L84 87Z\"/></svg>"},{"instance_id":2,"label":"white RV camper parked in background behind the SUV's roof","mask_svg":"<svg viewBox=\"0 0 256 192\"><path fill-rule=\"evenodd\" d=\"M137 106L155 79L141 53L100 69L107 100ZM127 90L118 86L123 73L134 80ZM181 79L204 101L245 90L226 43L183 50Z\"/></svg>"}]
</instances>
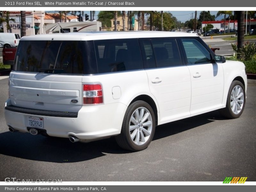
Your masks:
<instances>
[{"instance_id":1,"label":"white RV camper parked in background behind the SUV's roof","mask_svg":"<svg viewBox=\"0 0 256 192\"><path fill-rule=\"evenodd\" d=\"M101 31L100 21L82 21L67 23L49 23L45 26L45 33L67 33L67 32L87 32Z\"/></svg>"}]
</instances>

